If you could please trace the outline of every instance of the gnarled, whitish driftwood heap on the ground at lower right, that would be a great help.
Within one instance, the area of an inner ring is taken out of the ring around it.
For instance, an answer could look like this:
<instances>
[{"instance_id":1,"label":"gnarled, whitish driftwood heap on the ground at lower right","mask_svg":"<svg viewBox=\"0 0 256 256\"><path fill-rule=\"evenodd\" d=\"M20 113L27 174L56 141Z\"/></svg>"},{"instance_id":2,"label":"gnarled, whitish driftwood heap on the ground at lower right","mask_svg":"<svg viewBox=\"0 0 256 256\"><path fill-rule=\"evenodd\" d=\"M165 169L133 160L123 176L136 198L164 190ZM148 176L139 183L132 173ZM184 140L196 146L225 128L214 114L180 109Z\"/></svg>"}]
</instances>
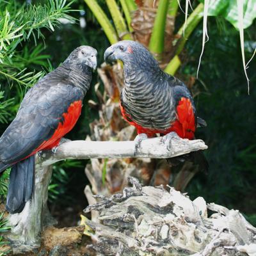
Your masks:
<instances>
[{"instance_id":1,"label":"gnarled, whitish driftwood heap on the ground at lower right","mask_svg":"<svg viewBox=\"0 0 256 256\"><path fill-rule=\"evenodd\" d=\"M99 212L100 223L87 221L97 255L256 255L256 228L239 211L130 181L132 188L96 196L100 202L84 210Z\"/></svg>"}]
</instances>

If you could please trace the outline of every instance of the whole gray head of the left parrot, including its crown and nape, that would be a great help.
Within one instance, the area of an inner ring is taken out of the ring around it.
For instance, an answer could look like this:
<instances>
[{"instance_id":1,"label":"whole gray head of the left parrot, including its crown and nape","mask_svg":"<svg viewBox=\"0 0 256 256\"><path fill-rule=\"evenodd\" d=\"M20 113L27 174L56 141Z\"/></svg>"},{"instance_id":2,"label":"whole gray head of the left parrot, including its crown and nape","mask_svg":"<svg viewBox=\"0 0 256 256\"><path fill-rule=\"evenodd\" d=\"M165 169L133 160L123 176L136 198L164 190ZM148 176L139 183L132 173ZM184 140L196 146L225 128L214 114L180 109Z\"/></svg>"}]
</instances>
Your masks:
<instances>
[{"instance_id":1,"label":"whole gray head of the left parrot, including its crown and nape","mask_svg":"<svg viewBox=\"0 0 256 256\"><path fill-rule=\"evenodd\" d=\"M94 71L97 68L97 50L88 45L79 46L70 53L66 61L81 67L88 66Z\"/></svg>"}]
</instances>

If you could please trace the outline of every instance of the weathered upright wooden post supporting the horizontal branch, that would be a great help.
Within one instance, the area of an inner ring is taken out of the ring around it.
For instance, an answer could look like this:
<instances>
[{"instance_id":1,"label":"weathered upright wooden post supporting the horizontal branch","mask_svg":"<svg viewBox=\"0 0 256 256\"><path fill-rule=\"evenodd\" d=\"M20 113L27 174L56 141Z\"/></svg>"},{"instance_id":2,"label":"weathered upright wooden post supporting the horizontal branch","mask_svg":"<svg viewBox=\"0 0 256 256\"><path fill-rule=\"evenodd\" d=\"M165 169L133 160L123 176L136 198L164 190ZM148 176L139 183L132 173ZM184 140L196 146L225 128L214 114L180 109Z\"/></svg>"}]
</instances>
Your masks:
<instances>
[{"instance_id":1,"label":"weathered upright wooden post supporting the horizontal branch","mask_svg":"<svg viewBox=\"0 0 256 256\"><path fill-rule=\"evenodd\" d=\"M12 227L8 239L11 242L13 253L28 252L40 247L40 233L43 225L52 224L52 217L47 207L51 175L51 165L47 167L37 165L33 198L26 203L22 212L8 216Z\"/></svg>"}]
</instances>

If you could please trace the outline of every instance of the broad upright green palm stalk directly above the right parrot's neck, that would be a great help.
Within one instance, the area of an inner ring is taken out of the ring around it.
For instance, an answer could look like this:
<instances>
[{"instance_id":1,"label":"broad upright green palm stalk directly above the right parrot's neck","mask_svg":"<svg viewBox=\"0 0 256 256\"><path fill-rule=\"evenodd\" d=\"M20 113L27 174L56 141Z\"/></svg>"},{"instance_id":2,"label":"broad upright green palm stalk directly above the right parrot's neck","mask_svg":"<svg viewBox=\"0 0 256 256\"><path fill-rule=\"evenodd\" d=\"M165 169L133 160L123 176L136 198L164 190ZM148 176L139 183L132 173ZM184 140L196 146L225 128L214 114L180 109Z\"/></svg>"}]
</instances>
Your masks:
<instances>
[{"instance_id":1,"label":"broad upright green palm stalk directly above the right parrot's neck","mask_svg":"<svg viewBox=\"0 0 256 256\"><path fill-rule=\"evenodd\" d=\"M164 31L168 5L169 0L159 1L154 28L148 45L148 49L154 54L161 54L164 51ZM161 56L158 57L161 58Z\"/></svg>"}]
</instances>

